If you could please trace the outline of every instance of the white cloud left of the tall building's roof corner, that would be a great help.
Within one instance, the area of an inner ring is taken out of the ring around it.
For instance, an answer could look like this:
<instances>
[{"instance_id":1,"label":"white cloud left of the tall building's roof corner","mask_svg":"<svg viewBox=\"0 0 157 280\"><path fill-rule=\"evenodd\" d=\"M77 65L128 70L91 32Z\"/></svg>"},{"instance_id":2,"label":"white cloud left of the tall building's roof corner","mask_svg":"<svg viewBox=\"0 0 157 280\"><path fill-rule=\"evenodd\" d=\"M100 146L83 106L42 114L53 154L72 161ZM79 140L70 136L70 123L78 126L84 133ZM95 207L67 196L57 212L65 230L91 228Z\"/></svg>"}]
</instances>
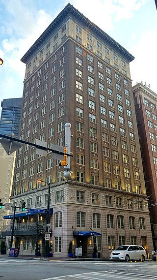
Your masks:
<instances>
[{"instance_id":1,"label":"white cloud left of the tall building's roof corner","mask_svg":"<svg viewBox=\"0 0 157 280\"><path fill-rule=\"evenodd\" d=\"M9 32L1 43L4 67L10 72L11 69L15 70L24 77L25 64L20 59L52 22L52 16L44 10L34 10L32 6L24 5L21 0L7 1L6 9L11 20L3 22L3 29Z\"/></svg>"}]
</instances>

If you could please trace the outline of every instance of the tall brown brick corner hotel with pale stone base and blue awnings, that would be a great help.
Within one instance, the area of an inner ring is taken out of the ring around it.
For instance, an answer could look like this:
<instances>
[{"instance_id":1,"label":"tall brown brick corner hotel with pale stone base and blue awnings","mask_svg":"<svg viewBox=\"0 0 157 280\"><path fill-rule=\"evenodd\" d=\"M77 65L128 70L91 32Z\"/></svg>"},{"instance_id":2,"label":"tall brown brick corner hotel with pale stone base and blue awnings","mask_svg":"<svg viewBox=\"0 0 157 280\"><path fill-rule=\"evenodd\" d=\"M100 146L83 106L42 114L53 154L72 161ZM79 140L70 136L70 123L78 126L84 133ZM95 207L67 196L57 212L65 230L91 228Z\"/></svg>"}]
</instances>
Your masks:
<instances>
[{"instance_id":1,"label":"tall brown brick corner hotel with pale stone base and blue awnings","mask_svg":"<svg viewBox=\"0 0 157 280\"><path fill-rule=\"evenodd\" d=\"M133 56L68 4L22 58L26 63L22 139L64 145L71 123L71 178L51 153L36 156L23 145L16 160L12 203L47 207L51 183L54 256L67 256L69 242L83 256L109 257L122 244L153 249L134 111L129 63ZM15 245L45 250L42 215L17 213ZM4 217L8 218L8 217ZM40 226L40 227L39 227ZM5 233L9 235L9 228Z\"/></svg>"}]
</instances>

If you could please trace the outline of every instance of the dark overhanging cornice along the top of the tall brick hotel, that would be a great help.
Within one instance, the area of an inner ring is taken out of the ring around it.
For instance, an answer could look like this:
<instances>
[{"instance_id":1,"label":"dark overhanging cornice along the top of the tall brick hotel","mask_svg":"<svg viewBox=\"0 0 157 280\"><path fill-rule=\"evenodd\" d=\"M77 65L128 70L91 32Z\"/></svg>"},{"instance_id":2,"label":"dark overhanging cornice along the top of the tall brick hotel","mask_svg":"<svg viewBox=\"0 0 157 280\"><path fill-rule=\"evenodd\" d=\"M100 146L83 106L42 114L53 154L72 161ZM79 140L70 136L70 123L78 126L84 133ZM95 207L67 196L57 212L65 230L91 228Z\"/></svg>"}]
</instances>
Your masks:
<instances>
[{"instance_id":1,"label":"dark overhanging cornice along the top of the tall brick hotel","mask_svg":"<svg viewBox=\"0 0 157 280\"><path fill-rule=\"evenodd\" d=\"M21 61L26 63L29 57L36 51L36 49L45 41L46 38L52 33L52 31L56 28L58 24L60 24L67 15L72 15L81 21L84 25L88 27L92 32L96 32L98 36L100 36L105 42L119 52L122 56L124 56L128 62L131 62L134 57L120 44L118 44L114 39L112 39L105 31L100 29L97 25L92 23L88 18L86 18L83 14L81 14L76 8L73 7L70 3L68 3L65 8L59 13L59 15L52 21L52 23L48 26L48 28L40 35L40 37L35 41L35 43L30 47L30 49L26 52L26 54L22 57Z\"/></svg>"}]
</instances>

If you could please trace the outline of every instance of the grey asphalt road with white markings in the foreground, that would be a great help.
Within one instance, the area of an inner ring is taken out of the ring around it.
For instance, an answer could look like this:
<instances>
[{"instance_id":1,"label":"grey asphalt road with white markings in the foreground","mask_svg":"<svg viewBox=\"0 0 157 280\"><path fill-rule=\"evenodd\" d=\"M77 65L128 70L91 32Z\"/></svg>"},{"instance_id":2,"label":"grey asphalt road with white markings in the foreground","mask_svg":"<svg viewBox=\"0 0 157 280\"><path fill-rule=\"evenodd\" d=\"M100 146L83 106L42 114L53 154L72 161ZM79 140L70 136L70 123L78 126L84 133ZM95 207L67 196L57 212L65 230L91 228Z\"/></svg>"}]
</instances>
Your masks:
<instances>
[{"instance_id":1,"label":"grey asphalt road with white markings in the foreground","mask_svg":"<svg viewBox=\"0 0 157 280\"><path fill-rule=\"evenodd\" d=\"M157 280L157 262L0 258L0 280Z\"/></svg>"}]
</instances>

